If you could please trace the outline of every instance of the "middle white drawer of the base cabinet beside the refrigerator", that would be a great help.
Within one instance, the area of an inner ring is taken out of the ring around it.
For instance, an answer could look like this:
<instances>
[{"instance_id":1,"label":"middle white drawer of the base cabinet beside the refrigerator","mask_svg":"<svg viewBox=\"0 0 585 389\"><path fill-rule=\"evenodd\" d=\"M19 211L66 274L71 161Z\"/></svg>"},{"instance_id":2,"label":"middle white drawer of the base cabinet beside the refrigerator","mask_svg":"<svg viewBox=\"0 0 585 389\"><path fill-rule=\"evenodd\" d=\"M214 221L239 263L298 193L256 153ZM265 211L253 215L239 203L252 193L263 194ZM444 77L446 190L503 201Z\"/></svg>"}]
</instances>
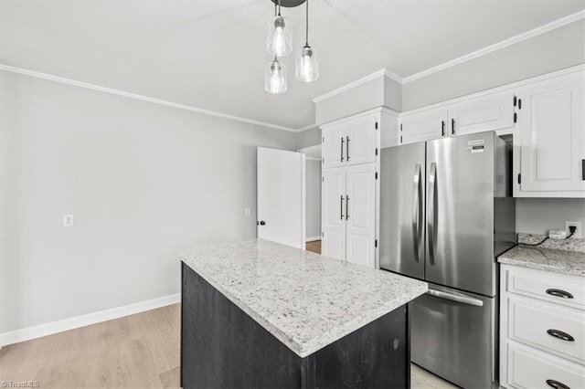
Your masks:
<instances>
[{"instance_id":1,"label":"middle white drawer of the base cabinet beside the refrigerator","mask_svg":"<svg viewBox=\"0 0 585 389\"><path fill-rule=\"evenodd\" d=\"M526 298L511 297L507 301L509 339L585 362L584 311Z\"/></svg>"}]
</instances>

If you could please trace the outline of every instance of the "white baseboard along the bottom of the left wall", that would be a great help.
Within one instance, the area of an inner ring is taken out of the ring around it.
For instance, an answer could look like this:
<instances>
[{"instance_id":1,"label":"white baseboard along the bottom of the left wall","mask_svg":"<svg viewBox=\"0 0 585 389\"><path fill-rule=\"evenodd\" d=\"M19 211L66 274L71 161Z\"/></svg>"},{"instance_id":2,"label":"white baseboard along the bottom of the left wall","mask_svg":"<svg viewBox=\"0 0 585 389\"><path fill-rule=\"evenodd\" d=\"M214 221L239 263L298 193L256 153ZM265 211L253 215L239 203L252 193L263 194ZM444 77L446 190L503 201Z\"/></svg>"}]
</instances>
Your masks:
<instances>
[{"instance_id":1,"label":"white baseboard along the bottom of the left wall","mask_svg":"<svg viewBox=\"0 0 585 389\"><path fill-rule=\"evenodd\" d=\"M7 346L8 344L30 341L31 339L41 338L58 332L74 330L101 321L111 321L113 319L122 318L123 316L133 315L134 313L176 304L177 302L181 302L180 293L171 294L153 300L135 302L133 304L123 305L122 307L112 308L110 310L100 310L69 319L63 319L61 321L52 321L20 330L0 333L0 347Z\"/></svg>"}]
</instances>

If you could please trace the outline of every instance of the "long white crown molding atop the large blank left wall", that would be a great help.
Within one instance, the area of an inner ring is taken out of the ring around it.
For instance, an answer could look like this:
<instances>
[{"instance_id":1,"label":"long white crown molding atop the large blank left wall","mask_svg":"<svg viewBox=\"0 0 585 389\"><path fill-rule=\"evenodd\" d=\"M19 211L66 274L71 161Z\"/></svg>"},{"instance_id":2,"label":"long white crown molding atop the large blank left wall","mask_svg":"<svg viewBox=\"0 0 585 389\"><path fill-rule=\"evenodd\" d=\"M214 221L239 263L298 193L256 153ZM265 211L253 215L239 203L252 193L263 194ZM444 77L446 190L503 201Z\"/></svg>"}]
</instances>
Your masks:
<instances>
[{"instance_id":1,"label":"long white crown molding atop the large blank left wall","mask_svg":"<svg viewBox=\"0 0 585 389\"><path fill-rule=\"evenodd\" d=\"M98 91L101 91L104 93L110 93L112 95L122 96L122 97L133 99L133 100L142 100L142 101L152 102L154 104L164 105L165 107L176 108L178 110L190 110L192 112L197 112L197 113L201 113L201 114L208 115L208 116L215 116L215 117L221 118L221 119L229 119L231 121L241 121L244 123L255 124L255 125L262 126L262 127L269 127L269 128L276 129L276 130L300 132L300 131L303 131L303 129L309 129L309 128L312 128L315 126L314 124L312 124L310 126L307 126L306 128L303 127L301 129L293 129L290 127L280 126L278 124L268 123L266 121L254 121L251 119L242 118L242 117L235 116L235 115L229 115L228 113L222 113L222 112L218 112L215 110L204 110L204 109L193 107L193 106L186 105L186 104L179 104L179 103L176 103L173 101L160 100L160 99L155 99L155 98L152 98L149 96L144 96L144 95L139 95L136 93L127 92L124 90L101 87L100 85L90 84L88 82L82 82L82 81L78 81L75 79L66 79L64 77L53 76L51 74L41 73L41 72L38 72L35 70L29 70L27 68L16 68L16 67L8 66L5 64L0 64L0 70L5 70L5 71L12 72L12 73L22 74L25 76L35 77L37 79L48 79L50 81L60 82L62 84L67 84L67 85L73 85L75 87L91 89L91 90L98 90Z\"/></svg>"}]
</instances>

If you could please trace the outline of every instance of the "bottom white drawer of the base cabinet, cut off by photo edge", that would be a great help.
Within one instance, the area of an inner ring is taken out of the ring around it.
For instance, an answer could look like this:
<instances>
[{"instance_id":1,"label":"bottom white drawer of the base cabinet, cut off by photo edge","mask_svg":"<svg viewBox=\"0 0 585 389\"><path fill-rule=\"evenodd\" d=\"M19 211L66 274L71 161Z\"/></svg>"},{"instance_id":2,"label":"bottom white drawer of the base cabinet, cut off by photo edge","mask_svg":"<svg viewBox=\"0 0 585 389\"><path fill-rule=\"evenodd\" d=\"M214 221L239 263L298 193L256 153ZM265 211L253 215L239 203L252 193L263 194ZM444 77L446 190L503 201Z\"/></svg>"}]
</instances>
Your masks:
<instances>
[{"instance_id":1,"label":"bottom white drawer of the base cabinet, cut off by photo edge","mask_svg":"<svg viewBox=\"0 0 585 389\"><path fill-rule=\"evenodd\" d=\"M585 387L582 366L520 344L507 344L507 374L501 384L513 388L550 389L554 386L552 382L547 384L548 380L564 384L570 389Z\"/></svg>"}]
</instances>

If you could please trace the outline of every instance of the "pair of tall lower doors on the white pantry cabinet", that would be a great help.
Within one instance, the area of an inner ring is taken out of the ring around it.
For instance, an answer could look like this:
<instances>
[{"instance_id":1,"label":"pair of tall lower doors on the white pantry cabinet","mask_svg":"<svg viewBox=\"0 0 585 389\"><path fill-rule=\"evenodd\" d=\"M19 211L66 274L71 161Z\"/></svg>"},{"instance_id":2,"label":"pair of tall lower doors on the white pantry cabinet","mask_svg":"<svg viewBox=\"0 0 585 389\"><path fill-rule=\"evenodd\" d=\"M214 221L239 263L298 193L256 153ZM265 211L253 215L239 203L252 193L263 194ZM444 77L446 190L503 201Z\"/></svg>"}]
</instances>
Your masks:
<instances>
[{"instance_id":1,"label":"pair of tall lower doors on the white pantry cabinet","mask_svg":"<svg viewBox=\"0 0 585 389\"><path fill-rule=\"evenodd\" d=\"M375 267L376 163L323 170L322 253Z\"/></svg>"}]
</instances>

